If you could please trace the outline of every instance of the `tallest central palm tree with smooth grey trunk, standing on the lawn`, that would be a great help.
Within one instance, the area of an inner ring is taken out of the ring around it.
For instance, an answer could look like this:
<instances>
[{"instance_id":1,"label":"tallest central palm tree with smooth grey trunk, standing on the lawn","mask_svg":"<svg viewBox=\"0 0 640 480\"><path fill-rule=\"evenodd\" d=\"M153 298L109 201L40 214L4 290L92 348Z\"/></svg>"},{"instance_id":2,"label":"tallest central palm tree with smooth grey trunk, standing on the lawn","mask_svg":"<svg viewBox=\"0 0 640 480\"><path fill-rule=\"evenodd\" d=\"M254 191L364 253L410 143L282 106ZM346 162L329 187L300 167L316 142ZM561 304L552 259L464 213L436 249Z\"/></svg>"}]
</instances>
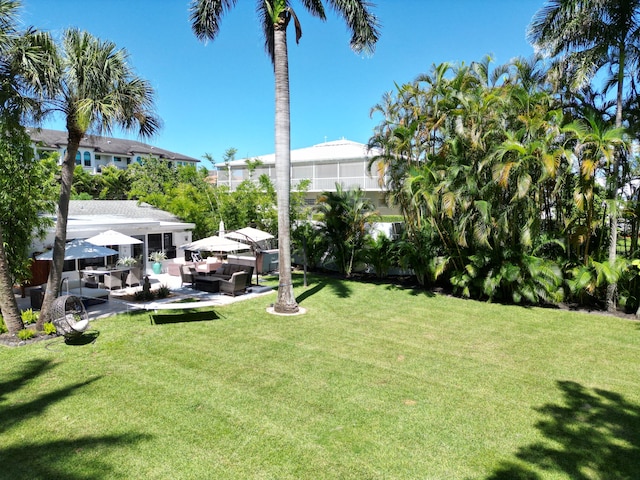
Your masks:
<instances>
[{"instance_id":1,"label":"tallest central palm tree with smooth grey trunk, standing on the lawn","mask_svg":"<svg viewBox=\"0 0 640 480\"><path fill-rule=\"evenodd\" d=\"M370 11L367 0L327 0L344 19L351 31L351 48L360 52L372 51L378 40L378 21ZM192 0L190 6L193 31L200 40L214 40L220 29L223 14L234 7L237 0ZM303 0L309 13L325 20L322 0ZM289 0L258 0L267 53L273 62L275 76L275 156L278 201L279 274L278 299L274 310L295 313L298 304L291 283L290 189L291 141L289 113L289 59L287 53L287 27L293 20L296 42L302 30Z\"/></svg>"}]
</instances>

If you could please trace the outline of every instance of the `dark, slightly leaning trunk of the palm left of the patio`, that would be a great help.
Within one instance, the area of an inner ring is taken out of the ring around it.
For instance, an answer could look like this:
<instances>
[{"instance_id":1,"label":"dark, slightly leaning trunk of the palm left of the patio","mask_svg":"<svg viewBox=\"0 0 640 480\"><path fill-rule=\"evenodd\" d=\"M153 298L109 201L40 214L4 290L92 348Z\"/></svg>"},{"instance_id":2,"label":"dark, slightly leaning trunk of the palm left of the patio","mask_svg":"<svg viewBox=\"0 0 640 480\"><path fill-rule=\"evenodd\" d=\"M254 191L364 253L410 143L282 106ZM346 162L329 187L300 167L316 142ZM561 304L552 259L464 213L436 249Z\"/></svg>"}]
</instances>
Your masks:
<instances>
[{"instance_id":1,"label":"dark, slightly leaning trunk of the palm left of the patio","mask_svg":"<svg viewBox=\"0 0 640 480\"><path fill-rule=\"evenodd\" d=\"M64 268L64 249L67 242L67 223L69 220L69 200L71 199L71 186L73 184L73 171L76 168L76 154L80 146L80 140L84 135L79 128L73 127L67 122L69 138L67 142L67 153L62 163L62 178L60 182L60 199L58 201L58 211L56 215L56 233L53 242L53 262L49 278L47 280L47 291L42 300L42 308L36 328L42 330L44 322L51 321L51 307L53 301L60 293L60 282L62 281L62 270Z\"/></svg>"}]
</instances>

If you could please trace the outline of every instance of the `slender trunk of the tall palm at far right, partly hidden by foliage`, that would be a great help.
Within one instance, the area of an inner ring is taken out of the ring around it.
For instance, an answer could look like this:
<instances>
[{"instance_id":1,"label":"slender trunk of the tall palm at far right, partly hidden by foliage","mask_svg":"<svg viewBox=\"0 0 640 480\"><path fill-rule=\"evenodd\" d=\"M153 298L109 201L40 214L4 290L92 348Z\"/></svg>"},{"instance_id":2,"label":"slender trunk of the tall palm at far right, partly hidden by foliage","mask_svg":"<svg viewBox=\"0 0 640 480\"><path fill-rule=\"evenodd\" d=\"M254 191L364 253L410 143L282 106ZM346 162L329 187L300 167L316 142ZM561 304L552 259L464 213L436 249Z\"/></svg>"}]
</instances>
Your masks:
<instances>
[{"instance_id":1,"label":"slender trunk of the tall palm at far right, partly hidden by foliage","mask_svg":"<svg viewBox=\"0 0 640 480\"><path fill-rule=\"evenodd\" d=\"M616 128L622 127L622 97L624 95L624 67L626 50L624 47L624 41L620 42L619 47L619 63L618 63L618 89L616 93ZM620 155L621 152L616 152L613 156L613 172L611 175L611 225L609 231L609 263L613 266L618 256L618 177L620 175ZM613 312L616 310L616 290L618 288L617 283L610 283L607 285L607 310Z\"/></svg>"}]
</instances>

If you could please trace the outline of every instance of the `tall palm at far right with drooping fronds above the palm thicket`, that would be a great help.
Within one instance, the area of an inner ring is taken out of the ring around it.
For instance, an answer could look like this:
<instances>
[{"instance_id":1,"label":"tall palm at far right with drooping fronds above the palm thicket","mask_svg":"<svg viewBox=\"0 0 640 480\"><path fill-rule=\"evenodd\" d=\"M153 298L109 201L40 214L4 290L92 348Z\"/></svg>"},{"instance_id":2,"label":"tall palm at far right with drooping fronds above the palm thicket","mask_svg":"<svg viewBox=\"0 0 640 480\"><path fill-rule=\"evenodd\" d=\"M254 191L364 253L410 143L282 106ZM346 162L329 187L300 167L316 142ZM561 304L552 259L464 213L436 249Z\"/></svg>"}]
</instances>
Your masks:
<instances>
[{"instance_id":1,"label":"tall palm at far right with drooping fronds above the palm thicket","mask_svg":"<svg viewBox=\"0 0 640 480\"><path fill-rule=\"evenodd\" d=\"M616 87L615 127L622 127L625 77L635 75L640 64L640 0L549 0L536 13L528 32L539 49L558 58L560 70L586 83L605 66L612 73L609 86ZM617 198L620 156L612 162L609 181L611 200ZM609 262L617 252L617 207L611 209ZM616 284L607 287L607 309L615 310Z\"/></svg>"}]
</instances>

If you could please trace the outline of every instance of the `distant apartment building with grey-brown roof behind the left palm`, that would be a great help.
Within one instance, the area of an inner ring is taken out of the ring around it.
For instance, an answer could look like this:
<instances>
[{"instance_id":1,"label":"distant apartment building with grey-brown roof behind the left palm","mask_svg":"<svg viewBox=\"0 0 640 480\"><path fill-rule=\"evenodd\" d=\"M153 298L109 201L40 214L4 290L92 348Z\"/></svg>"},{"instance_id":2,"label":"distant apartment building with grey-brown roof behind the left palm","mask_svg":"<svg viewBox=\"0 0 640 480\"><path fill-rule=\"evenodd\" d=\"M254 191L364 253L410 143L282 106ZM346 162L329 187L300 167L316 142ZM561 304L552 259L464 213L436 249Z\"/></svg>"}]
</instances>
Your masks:
<instances>
[{"instance_id":1,"label":"distant apartment building with grey-brown roof behind the left palm","mask_svg":"<svg viewBox=\"0 0 640 480\"><path fill-rule=\"evenodd\" d=\"M67 132L30 128L28 133L38 157L42 157L46 152L58 152L62 161L67 150ZM107 165L124 170L133 162L141 163L143 158L149 156L164 160L171 166L197 166L200 162L195 158L135 140L86 135L80 142L80 148L76 154L76 165L96 174Z\"/></svg>"}]
</instances>

